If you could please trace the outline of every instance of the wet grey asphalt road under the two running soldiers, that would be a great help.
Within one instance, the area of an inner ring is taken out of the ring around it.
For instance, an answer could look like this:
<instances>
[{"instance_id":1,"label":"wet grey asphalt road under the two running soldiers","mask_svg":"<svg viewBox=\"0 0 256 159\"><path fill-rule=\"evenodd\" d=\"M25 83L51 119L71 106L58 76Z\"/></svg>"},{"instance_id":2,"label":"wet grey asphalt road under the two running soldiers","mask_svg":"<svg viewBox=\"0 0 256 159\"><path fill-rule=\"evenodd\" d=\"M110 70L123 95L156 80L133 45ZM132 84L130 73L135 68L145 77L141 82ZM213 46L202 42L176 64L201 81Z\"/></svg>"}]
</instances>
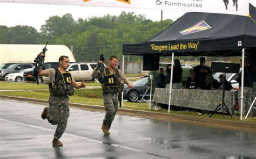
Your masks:
<instances>
[{"instance_id":1,"label":"wet grey asphalt road under the two running soldiers","mask_svg":"<svg viewBox=\"0 0 256 159\"><path fill-rule=\"evenodd\" d=\"M44 105L0 100L1 158L256 158L256 134L116 115L104 136L103 112L74 108L56 148Z\"/></svg>"}]
</instances>

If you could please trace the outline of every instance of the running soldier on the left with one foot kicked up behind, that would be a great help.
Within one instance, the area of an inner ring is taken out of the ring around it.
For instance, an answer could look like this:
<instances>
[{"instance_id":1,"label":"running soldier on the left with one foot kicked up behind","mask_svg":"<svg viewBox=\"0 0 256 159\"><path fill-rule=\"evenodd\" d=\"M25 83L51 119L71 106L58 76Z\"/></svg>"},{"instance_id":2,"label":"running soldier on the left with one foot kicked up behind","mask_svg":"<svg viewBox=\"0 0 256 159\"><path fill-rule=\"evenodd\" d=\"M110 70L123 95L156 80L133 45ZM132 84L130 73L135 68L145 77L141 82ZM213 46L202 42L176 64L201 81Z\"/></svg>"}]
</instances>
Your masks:
<instances>
[{"instance_id":1,"label":"running soldier on the left with one foot kicked up behind","mask_svg":"<svg viewBox=\"0 0 256 159\"><path fill-rule=\"evenodd\" d=\"M62 134L65 132L66 125L69 118L69 96L72 96L76 89L85 88L86 84L82 81L78 84L69 71L69 57L59 57L59 67L39 71L38 76L50 77L49 83L50 98L49 107L45 107L41 117L43 120L47 119L52 125L58 125L52 146L63 146L59 141Z\"/></svg>"}]
</instances>

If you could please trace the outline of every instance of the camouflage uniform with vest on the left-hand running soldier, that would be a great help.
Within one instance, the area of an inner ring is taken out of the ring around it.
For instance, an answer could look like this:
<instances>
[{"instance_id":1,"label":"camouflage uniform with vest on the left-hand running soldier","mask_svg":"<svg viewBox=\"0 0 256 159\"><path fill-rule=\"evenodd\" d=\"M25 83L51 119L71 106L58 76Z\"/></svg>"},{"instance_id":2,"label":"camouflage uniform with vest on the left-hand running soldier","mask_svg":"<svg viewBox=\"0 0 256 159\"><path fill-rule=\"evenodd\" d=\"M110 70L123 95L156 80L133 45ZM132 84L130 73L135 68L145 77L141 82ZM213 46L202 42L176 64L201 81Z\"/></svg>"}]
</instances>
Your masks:
<instances>
[{"instance_id":1,"label":"camouflage uniform with vest on the left-hand running soldier","mask_svg":"<svg viewBox=\"0 0 256 159\"><path fill-rule=\"evenodd\" d=\"M63 79L64 74L60 74L57 69L48 69L48 77L51 78L51 84L49 84L50 98L49 108L46 113L46 119L52 125L58 125L55 132L55 139L59 139L65 132L66 125L68 124L69 118L69 96L74 93L73 85L71 84L72 76L70 75L69 84ZM55 75L57 71L57 75ZM56 79L55 79L56 78Z\"/></svg>"}]
</instances>

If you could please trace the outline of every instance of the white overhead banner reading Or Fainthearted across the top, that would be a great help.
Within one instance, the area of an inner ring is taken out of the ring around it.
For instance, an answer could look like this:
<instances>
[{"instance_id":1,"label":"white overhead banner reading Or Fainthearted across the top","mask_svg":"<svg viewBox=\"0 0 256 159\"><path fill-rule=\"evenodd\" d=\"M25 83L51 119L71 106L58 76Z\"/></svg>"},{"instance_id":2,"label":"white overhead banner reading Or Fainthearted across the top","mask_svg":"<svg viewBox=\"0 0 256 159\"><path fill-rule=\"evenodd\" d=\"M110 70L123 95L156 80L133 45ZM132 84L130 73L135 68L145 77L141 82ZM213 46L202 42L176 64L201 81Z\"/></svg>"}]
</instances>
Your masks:
<instances>
[{"instance_id":1,"label":"white overhead banner reading Or Fainthearted across the top","mask_svg":"<svg viewBox=\"0 0 256 159\"><path fill-rule=\"evenodd\" d=\"M9 3L109 6L118 8L179 10L249 15L249 0L0 0Z\"/></svg>"}]
</instances>

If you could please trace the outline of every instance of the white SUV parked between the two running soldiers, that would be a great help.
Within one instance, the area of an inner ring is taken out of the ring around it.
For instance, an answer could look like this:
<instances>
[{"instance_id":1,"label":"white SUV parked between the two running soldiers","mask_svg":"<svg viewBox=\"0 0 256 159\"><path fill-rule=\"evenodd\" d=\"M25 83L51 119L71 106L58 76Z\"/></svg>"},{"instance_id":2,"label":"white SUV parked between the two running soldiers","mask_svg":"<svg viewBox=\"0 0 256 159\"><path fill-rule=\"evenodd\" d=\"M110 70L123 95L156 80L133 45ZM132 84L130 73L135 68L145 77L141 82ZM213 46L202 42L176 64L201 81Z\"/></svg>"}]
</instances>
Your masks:
<instances>
[{"instance_id":1,"label":"white SUV parked between the two running soldiers","mask_svg":"<svg viewBox=\"0 0 256 159\"><path fill-rule=\"evenodd\" d=\"M97 63L71 63L67 70L76 81L94 81L91 74L96 66Z\"/></svg>"}]
</instances>

